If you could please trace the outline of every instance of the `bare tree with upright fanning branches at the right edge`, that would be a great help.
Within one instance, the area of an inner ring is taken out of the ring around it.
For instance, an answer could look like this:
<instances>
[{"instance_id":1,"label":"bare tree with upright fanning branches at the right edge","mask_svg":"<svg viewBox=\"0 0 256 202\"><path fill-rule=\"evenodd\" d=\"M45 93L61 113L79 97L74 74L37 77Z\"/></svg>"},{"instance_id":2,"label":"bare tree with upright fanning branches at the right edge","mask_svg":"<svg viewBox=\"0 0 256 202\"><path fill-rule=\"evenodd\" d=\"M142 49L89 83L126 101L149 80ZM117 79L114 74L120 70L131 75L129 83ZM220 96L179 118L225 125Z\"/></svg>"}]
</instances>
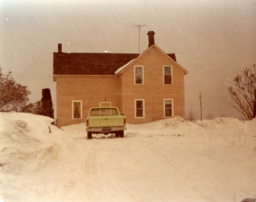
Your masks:
<instances>
[{"instance_id":1,"label":"bare tree with upright fanning branches at the right edge","mask_svg":"<svg viewBox=\"0 0 256 202\"><path fill-rule=\"evenodd\" d=\"M252 68L246 68L241 74L237 74L234 82L234 86L228 88L234 102L233 107L245 120L252 120L255 113L256 66L253 65Z\"/></svg>"}]
</instances>

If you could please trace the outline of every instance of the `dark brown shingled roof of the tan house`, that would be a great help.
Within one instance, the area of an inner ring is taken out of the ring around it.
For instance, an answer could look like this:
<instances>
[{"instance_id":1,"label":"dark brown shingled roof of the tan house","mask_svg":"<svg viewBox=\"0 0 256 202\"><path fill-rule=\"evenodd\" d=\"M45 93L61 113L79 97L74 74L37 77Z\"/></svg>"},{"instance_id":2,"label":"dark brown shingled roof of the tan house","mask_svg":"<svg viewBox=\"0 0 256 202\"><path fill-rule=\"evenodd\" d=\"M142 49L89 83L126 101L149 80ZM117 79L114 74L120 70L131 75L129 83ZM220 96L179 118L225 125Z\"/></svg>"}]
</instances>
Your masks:
<instances>
[{"instance_id":1,"label":"dark brown shingled roof of the tan house","mask_svg":"<svg viewBox=\"0 0 256 202\"><path fill-rule=\"evenodd\" d=\"M139 54L126 53L53 53L55 75L115 75L115 71ZM175 54L168 54L176 61Z\"/></svg>"}]
</instances>

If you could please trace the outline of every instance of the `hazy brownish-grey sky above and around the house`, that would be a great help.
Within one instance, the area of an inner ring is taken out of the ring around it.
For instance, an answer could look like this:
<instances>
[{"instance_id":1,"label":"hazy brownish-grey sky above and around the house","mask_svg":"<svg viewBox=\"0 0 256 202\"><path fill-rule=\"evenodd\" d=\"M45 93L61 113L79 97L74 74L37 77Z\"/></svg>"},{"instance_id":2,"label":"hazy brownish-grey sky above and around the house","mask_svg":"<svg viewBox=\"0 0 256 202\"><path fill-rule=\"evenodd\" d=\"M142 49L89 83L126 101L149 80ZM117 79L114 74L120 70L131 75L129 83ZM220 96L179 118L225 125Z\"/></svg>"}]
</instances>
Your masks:
<instances>
[{"instance_id":1,"label":"hazy brownish-grey sky above and around the house","mask_svg":"<svg viewBox=\"0 0 256 202\"><path fill-rule=\"evenodd\" d=\"M51 88L52 52L138 52L148 31L166 53L175 52L185 77L186 109L236 114L227 91L237 72L256 63L255 0L0 0L0 64L31 90L31 102Z\"/></svg>"}]
</instances>

